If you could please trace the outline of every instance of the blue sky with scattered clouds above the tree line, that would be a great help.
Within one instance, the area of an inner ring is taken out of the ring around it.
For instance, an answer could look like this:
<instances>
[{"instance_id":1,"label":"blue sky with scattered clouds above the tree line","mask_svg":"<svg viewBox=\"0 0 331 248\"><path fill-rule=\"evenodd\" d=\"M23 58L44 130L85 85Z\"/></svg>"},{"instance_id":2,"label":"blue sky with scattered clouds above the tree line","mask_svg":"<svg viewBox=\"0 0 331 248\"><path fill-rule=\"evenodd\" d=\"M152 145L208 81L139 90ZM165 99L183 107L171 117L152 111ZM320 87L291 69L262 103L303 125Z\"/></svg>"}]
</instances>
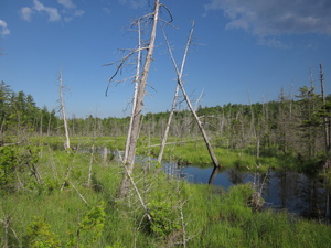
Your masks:
<instances>
[{"instance_id":1,"label":"blue sky with scattered clouds above the tree line","mask_svg":"<svg viewBox=\"0 0 331 248\"><path fill-rule=\"evenodd\" d=\"M162 0L145 112L171 109L175 72L194 21L183 80L195 107L278 100L313 79L331 93L330 0ZM58 109L58 75L68 117L130 114L134 65L105 91L116 62L137 47L130 25L152 12L151 0L0 0L0 80ZM166 25L173 19L171 25ZM179 108L185 108L181 103Z\"/></svg>"}]
</instances>

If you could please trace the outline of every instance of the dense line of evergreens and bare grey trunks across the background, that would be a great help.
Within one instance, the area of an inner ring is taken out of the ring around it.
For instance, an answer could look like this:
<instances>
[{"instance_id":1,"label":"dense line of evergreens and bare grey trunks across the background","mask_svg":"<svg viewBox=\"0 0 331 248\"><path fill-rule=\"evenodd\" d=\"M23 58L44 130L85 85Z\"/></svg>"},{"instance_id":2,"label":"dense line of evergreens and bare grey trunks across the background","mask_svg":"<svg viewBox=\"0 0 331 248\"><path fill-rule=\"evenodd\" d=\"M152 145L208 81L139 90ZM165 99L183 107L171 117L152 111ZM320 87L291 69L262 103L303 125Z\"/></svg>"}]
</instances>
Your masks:
<instances>
[{"instance_id":1,"label":"dense line of evergreens and bare grey trunks across the background","mask_svg":"<svg viewBox=\"0 0 331 248\"><path fill-rule=\"evenodd\" d=\"M0 112L2 140L6 134L64 133L63 121L54 109L36 107L31 95L14 93L4 82L0 84ZM306 160L330 155L331 95L322 97L313 86L299 88L295 96L281 89L278 99L268 103L199 106L196 114L217 147L252 149L257 157L284 153ZM161 140L169 115L170 111L142 115L140 134ZM67 122L71 137L124 137L130 118L73 116ZM200 137L189 109L174 111L169 133L179 139Z\"/></svg>"}]
</instances>

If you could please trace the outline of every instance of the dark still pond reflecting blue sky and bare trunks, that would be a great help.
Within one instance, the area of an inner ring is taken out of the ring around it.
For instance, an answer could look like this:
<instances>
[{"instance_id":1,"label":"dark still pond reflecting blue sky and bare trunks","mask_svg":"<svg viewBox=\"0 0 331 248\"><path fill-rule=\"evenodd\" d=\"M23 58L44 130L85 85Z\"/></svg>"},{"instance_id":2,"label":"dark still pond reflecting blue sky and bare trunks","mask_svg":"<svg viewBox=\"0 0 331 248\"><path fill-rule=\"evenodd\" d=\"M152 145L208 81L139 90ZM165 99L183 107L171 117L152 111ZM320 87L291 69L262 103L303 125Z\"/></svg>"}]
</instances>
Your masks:
<instances>
[{"instance_id":1,"label":"dark still pond reflecting blue sky and bare trunks","mask_svg":"<svg viewBox=\"0 0 331 248\"><path fill-rule=\"evenodd\" d=\"M199 165L180 166L163 163L169 174L188 180L191 183L207 184L213 168ZM220 169L214 173L212 184L227 190L232 185L253 183L265 200L264 207L286 209L307 218L330 219L330 191L321 176L307 175L296 171L274 171L254 173L248 170Z\"/></svg>"}]
</instances>

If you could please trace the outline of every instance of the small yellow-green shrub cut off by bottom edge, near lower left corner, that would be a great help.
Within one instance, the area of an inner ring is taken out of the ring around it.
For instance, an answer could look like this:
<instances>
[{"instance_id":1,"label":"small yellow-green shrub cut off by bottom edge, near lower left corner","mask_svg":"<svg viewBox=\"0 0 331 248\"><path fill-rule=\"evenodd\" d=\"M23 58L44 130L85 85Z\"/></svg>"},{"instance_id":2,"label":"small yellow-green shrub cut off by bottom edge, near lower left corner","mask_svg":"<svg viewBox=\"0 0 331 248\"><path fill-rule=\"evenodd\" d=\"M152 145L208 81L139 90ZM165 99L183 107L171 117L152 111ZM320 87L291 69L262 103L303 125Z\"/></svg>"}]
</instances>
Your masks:
<instances>
[{"instance_id":1,"label":"small yellow-green shrub cut off by bottom edge, near lower left corner","mask_svg":"<svg viewBox=\"0 0 331 248\"><path fill-rule=\"evenodd\" d=\"M23 246L31 248L62 247L58 237L50 228L50 225L44 219L35 217L26 228Z\"/></svg>"}]
</instances>

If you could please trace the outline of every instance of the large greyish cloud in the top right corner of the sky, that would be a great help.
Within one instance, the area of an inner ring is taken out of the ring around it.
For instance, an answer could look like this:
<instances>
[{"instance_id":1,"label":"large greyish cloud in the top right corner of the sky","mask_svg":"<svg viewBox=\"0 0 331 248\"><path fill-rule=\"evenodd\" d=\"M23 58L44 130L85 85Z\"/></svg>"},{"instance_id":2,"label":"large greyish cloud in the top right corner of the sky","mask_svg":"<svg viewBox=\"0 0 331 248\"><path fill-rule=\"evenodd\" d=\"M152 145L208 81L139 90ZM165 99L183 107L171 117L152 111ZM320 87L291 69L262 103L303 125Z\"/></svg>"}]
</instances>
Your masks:
<instances>
[{"instance_id":1,"label":"large greyish cloud in the top right corner of the sky","mask_svg":"<svg viewBox=\"0 0 331 248\"><path fill-rule=\"evenodd\" d=\"M330 0L211 0L206 10L223 10L226 29L259 37L317 33L331 35Z\"/></svg>"}]
</instances>

